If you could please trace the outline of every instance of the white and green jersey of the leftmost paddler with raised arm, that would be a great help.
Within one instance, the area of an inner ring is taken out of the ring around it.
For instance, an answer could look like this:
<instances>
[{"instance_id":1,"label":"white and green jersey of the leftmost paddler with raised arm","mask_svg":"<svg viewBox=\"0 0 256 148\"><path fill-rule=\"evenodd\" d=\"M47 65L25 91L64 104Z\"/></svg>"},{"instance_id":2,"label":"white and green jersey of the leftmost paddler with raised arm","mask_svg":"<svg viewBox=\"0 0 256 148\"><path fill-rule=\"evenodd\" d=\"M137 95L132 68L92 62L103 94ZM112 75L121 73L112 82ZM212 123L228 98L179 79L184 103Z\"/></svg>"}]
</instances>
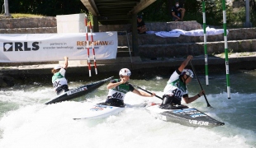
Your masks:
<instances>
[{"instance_id":1,"label":"white and green jersey of the leftmost paddler with raised arm","mask_svg":"<svg viewBox=\"0 0 256 148\"><path fill-rule=\"evenodd\" d=\"M66 70L64 68L61 68L59 70L59 72L56 72L54 74L54 76L52 76L52 83L53 86L55 87L55 90L59 87L59 86L64 86L64 85L68 85L68 81L66 80L65 76L65 72Z\"/></svg>"}]
</instances>

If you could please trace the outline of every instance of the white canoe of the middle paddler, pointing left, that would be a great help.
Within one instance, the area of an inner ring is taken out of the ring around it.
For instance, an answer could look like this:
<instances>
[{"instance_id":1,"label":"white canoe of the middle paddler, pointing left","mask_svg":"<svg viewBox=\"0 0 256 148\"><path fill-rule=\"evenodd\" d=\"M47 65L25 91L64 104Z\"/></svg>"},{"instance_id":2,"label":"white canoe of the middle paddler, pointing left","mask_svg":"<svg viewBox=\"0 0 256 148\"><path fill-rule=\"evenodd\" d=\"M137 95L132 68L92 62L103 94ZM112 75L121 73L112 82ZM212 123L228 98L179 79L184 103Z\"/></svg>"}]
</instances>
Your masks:
<instances>
[{"instance_id":1,"label":"white canoe of the middle paddler, pointing left","mask_svg":"<svg viewBox=\"0 0 256 148\"><path fill-rule=\"evenodd\" d=\"M108 106L102 104L96 104L91 109L89 109L86 113L83 114L81 118L73 118L77 119L97 119L97 118L107 118L111 115L116 115L121 113L125 107L115 107Z\"/></svg>"}]
</instances>

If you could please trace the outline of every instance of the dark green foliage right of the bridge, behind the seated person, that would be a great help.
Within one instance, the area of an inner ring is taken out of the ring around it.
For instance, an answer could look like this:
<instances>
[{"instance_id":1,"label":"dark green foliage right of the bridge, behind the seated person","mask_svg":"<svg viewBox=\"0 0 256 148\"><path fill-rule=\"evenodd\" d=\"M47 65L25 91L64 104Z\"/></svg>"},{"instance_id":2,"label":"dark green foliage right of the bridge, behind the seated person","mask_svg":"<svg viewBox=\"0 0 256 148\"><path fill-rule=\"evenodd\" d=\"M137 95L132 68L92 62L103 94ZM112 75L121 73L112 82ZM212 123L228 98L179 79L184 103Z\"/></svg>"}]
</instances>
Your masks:
<instances>
[{"instance_id":1,"label":"dark green foliage right of the bridge, behind the seated person","mask_svg":"<svg viewBox=\"0 0 256 148\"><path fill-rule=\"evenodd\" d=\"M181 2L182 0L179 0ZM197 21L202 24L202 1L183 0L186 13L184 21ZM172 21L171 9L176 0L157 0L139 14L144 14L145 21ZM207 0L206 25L223 25L222 0ZM253 7L254 8L254 7ZM250 18L256 23L256 9L251 8ZM229 27L243 27L245 21L245 9L241 7L238 12L233 12L233 7L225 5L226 23Z\"/></svg>"}]
</instances>

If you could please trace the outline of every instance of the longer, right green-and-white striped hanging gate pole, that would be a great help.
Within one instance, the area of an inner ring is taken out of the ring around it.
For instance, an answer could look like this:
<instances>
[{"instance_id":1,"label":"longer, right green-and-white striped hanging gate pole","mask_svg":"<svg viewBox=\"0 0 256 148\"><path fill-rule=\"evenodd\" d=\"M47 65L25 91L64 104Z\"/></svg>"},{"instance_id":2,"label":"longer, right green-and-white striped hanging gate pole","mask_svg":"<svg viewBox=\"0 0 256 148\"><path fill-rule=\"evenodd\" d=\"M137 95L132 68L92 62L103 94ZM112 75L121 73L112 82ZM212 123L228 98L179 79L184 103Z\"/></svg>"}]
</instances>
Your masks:
<instances>
[{"instance_id":1,"label":"longer, right green-and-white striped hanging gate pole","mask_svg":"<svg viewBox=\"0 0 256 148\"><path fill-rule=\"evenodd\" d=\"M226 18L225 18L225 0L222 0L223 7L223 29L224 29L224 41L225 41L225 73L227 82L227 94L230 99L230 68L229 68L229 54L228 54L228 41L226 36Z\"/></svg>"}]
</instances>

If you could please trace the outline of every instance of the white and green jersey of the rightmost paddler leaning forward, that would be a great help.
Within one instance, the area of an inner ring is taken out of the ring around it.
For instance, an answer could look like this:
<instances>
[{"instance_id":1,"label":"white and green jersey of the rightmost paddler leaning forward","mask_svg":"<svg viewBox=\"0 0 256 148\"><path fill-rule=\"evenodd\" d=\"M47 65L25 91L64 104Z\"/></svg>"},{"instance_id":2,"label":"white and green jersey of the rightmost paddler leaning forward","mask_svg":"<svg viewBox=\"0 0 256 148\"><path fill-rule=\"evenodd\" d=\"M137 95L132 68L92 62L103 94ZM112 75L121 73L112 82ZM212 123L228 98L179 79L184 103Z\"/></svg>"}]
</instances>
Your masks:
<instances>
[{"instance_id":1,"label":"white and green jersey of the rightmost paddler leaning forward","mask_svg":"<svg viewBox=\"0 0 256 148\"><path fill-rule=\"evenodd\" d=\"M181 79L179 79L180 74L181 72L178 70L173 72L164 88L164 95L173 95L180 100L184 95L187 95L187 86Z\"/></svg>"}]
</instances>

